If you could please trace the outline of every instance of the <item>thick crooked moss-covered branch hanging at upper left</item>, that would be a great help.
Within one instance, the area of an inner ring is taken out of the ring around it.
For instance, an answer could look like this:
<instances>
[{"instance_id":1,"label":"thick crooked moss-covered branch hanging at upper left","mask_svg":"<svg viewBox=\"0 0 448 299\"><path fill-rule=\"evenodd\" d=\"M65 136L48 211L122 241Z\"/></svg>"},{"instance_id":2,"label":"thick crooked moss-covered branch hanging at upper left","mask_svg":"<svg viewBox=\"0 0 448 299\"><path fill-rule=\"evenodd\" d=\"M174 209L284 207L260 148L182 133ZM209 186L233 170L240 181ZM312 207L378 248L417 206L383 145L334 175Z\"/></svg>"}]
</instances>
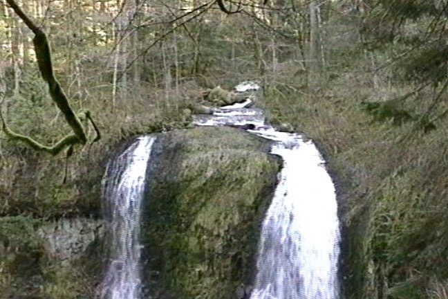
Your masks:
<instances>
[{"instance_id":1,"label":"thick crooked moss-covered branch hanging at upper left","mask_svg":"<svg viewBox=\"0 0 448 299\"><path fill-rule=\"evenodd\" d=\"M39 65L39 71L41 73L41 77L47 82L50 96L56 103L59 110L62 111L62 114L64 114L66 122L68 123L68 125L70 125L71 129L73 130L73 134L65 136L64 138L62 138L61 141L53 145L53 147L48 147L35 141L29 136L24 136L12 132L12 130L6 125L5 121L3 120L3 117L1 117L3 131L12 140L21 141L26 145L32 147L33 149L48 152L53 155L58 154L59 152L61 152L62 149L71 145L75 144L85 145L87 143L87 136L84 127L82 127L80 119L75 115L73 109L70 107L70 104L68 103L68 98L64 93L64 90L62 89L61 85L55 78L53 71L53 63L51 60L50 44L48 43L46 34L38 26L36 26L31 21L30 18L28 18L25 12L21 10L19 6L17 6L17 3L15 3L14 0L6 0L6 1L8 2L12 10L14 10L15 13L24 21L26 26L28 26L28 28L30 28L30 30L32 30L32 32L35 34L35 37L34 39L32 39L32 42L35 47L37 64ZM93 127L95 128L95 132L97 134L97 136L92 142L94 143L100 140L101 138L100 130L97 128L95 122L91 118L90 113L86 113L86 117L92 123Z\"/></svg>"}]
</instances>

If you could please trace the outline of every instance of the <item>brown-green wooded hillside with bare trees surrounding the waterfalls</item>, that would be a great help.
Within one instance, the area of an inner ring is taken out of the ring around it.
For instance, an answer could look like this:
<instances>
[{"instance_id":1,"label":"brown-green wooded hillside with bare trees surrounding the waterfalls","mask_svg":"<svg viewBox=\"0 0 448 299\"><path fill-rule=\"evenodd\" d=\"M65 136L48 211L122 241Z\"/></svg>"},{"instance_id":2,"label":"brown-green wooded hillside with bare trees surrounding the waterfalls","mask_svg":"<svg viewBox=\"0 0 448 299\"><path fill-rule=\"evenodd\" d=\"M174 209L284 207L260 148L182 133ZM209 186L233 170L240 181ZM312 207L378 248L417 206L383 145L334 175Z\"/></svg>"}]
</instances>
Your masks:
<instances>
[{"instance_id":1,"label":"brown-green wooded hillside with bare trees surrounding the waterfalls","mask_svg":"<svg viewBox=\"0 0 448 299\"><path fill-rule=\"evenodd\" d=\"M328 159L344 298L448 299L447 26L447 0L1 0L0 298L93 298L101 266L37 228L100 219L118 145L259 80Z\"/></svg>"}]
</instances>

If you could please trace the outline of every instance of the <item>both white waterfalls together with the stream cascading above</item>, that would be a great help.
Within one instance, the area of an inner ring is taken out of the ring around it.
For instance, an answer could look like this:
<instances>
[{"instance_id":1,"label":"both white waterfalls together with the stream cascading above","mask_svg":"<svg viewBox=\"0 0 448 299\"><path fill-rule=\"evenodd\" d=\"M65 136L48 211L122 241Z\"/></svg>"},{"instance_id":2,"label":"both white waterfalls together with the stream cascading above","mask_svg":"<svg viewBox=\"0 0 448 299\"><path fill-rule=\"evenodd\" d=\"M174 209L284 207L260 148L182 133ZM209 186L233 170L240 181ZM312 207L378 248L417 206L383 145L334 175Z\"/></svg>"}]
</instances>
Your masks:
<instances>
[{"instance_id":1,"label":"both white waterfalls together with the stream cascading above","mask_svg":"<svg viewBox=\"0 0 448 299\"><path fill-rule=\"evenodd\" d=\"M235 92L256 91L253 82ZM311 141L265 124L251 100L195 116L196 125L234 125L273 141L283 158L274 198L261 228L250 299L338 299L339 221L335 187ZM102 299L142 299L140 213L144 177L154 137L144 136L115 157L104 175L109 256Z\"/></svg>"}]
</instances>

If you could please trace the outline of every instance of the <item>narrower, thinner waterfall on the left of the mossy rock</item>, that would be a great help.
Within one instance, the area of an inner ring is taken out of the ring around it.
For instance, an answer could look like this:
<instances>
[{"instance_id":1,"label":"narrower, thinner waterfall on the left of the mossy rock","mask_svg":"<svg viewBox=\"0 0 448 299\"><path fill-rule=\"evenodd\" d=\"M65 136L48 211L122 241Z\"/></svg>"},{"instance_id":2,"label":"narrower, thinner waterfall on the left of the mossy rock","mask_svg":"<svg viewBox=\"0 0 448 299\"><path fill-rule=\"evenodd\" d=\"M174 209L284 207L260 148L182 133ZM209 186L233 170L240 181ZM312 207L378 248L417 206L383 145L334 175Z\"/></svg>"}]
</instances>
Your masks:
<instances>
[{"instance_id":1,"label":"narrower, thinner waterfall on the left of the mossy rock","mask_svg":"<svg viewBox=\"0 0 448 299\"><path fill-rule=\"evenodd\" d=\"M115 156L102 181L108 256L101 299L140 298L140 218L144 181L156 137L142 136Z\"/></svg>"}]
</instances>

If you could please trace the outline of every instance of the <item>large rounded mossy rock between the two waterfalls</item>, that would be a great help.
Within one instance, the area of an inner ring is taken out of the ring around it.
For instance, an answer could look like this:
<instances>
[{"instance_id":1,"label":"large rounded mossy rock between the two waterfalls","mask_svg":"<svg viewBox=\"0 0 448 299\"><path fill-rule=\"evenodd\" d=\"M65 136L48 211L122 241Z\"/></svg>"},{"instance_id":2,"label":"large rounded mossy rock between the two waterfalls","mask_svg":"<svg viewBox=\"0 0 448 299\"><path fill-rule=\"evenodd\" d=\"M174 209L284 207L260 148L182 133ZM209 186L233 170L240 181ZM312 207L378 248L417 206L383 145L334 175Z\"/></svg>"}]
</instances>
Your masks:
<instances>
[{"instance_id":1,"label":"large rounded mossy rock between the two waterfalls","mask_svg":"<svg viewBox=\"0 0 448 299\"><path fill-rule=\"evenodd\" d=\"M153 298L234 298L250 284L279 172L262 138L230 127L164 134L153 147L142 233Z\"/></svg>"}]
</instances>

